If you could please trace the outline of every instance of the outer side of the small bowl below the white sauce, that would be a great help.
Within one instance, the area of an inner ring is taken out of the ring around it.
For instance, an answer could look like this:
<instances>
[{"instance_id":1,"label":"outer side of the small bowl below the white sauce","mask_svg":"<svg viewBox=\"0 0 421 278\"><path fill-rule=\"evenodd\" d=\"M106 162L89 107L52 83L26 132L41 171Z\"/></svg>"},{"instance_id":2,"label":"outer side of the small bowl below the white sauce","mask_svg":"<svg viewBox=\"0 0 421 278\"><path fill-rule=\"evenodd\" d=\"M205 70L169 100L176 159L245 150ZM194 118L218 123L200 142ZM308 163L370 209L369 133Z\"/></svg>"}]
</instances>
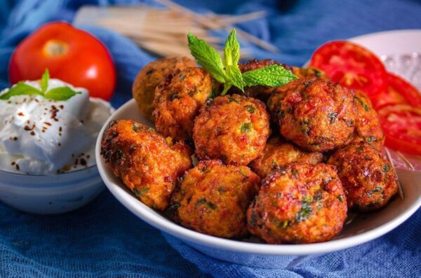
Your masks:
<instances>
[{"instance_id":1,"label":"outer side of the small bowl below the white sauce","mask_svg":"<svg viewBox=\"0 0 421 278\"><path fill-rule=\"evenodd\" d=\"M32 214L60 214L91 202L104 189L96 165L63 174L16 174L0 170L0 200Z\"/></svg>"}]
</instances>

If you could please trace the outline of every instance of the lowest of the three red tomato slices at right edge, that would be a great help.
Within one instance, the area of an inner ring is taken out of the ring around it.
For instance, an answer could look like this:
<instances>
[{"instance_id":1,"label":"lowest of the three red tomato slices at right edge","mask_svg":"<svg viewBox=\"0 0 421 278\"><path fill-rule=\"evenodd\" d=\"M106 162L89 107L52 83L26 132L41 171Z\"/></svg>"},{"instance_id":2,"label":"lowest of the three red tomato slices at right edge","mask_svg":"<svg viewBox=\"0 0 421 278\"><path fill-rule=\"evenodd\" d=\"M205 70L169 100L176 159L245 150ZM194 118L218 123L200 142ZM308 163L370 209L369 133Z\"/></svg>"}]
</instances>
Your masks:
<instances>
[{"instance_id":1,"label":"lowest of the three red tomato slices at right edge","mask_svg":"<svg viewBox=\"0 0 421 278\"><path fill-rule=\"evenodd\" d=\"M385 106L377 111L385 132L385 146L421 155L421 108L408 104Z\"/></svg>"}]
</instances>

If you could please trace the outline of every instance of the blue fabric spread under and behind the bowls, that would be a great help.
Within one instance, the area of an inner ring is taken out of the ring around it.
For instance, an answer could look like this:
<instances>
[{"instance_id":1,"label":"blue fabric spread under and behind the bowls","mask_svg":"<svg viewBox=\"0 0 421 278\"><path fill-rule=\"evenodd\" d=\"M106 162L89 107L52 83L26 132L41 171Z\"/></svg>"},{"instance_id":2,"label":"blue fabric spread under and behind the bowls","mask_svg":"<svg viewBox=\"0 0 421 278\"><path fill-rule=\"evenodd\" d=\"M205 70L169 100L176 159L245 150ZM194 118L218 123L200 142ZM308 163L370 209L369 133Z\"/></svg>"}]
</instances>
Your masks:
<instances>
[{"instance_id":1,"label":"blue fabric spread under and behind the bowls","mask_svg":"<svg viewBox=\"0 0 421 278\"><path fill-rule=\"evenodd\" d=\"M13 49L36 27L51 20L71 22L82 4L137 2L0 1L0 88L9 86L7 68ZM267 11L268 18L241 27L271 41L281 52L274 55L252 48L254 56L298 65L328 40L421 28L421 2L417 0L178 2L196 11ZM154 57L119 34L98 27L82 28L98 36L112 53L118 73L112 104L118 107L131 98L133 78ZM105 191L86 207L60 216L24 214L0 204L0 277L420 277L420 230L421 211L417 211L399 228L373 242L303 257L286 270L265 270L210 259L173 237L165 238Z\"/></svg>"}]
</instances>

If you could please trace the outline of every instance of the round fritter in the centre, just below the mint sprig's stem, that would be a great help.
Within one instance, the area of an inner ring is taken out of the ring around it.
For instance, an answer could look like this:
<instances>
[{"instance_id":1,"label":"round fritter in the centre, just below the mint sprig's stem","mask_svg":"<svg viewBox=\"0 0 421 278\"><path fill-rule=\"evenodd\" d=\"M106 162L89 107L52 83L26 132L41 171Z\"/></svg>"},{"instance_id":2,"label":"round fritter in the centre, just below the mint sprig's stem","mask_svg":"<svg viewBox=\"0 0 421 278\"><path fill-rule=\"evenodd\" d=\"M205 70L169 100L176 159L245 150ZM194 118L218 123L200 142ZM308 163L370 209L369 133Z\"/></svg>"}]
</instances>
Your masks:
<instances>
[{"instance_id":1,"label":"round fritter in the centre, just below the mint sprig's stem","mask_svg":"<svg viewBox=\"0 0 421 278\"><path fill-rule=\"evenodd\" d=\"M194 121L193 140L200 160L248 165L265 149L269 115L258 99L243 95L216 97Z\"/></svg>"}]
</instances>

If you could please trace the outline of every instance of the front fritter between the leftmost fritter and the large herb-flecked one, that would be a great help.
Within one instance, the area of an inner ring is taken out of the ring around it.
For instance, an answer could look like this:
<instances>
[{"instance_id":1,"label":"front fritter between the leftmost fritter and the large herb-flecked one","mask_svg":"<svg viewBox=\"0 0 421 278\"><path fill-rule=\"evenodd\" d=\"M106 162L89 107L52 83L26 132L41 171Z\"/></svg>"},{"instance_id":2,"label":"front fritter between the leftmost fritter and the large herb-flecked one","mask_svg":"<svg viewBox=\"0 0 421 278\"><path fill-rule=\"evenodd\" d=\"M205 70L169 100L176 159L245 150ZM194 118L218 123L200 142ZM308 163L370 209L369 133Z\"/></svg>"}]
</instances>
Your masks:
<instances>
[{"instance_id":1,"label":"front fritter between the leftmost fritter and the large herb-flecked one","mask_svg":"<svg viewBox=\"0 0 421 278\"><path fill-rule=\"evenodd\" d=\"M186 172L171 199L175 220L208 235L241 238L248 234L246 211L260 178L246 166L220 160L199 162Z\"/></svg>"}]
</instances>

